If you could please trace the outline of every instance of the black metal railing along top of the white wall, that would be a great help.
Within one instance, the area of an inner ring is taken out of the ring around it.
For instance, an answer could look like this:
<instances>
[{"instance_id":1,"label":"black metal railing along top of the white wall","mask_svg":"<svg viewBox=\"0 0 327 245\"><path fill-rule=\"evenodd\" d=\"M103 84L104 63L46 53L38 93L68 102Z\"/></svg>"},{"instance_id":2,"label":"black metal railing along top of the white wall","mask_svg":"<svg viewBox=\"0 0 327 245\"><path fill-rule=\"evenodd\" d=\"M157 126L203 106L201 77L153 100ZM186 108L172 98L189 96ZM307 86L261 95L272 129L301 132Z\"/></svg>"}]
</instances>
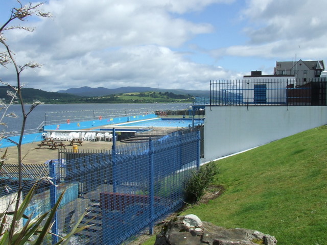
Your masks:
<instances>
[{"instance_id":1,"label":"black metal railing along top of the white wall","mask_svg":"<svg viewBox=\"0 0 327 245\"><path fill-rule=\"evenodd\" d=\"M325 106L326 79L210 81L210 106Z\"/></svg>"}]
</instances>

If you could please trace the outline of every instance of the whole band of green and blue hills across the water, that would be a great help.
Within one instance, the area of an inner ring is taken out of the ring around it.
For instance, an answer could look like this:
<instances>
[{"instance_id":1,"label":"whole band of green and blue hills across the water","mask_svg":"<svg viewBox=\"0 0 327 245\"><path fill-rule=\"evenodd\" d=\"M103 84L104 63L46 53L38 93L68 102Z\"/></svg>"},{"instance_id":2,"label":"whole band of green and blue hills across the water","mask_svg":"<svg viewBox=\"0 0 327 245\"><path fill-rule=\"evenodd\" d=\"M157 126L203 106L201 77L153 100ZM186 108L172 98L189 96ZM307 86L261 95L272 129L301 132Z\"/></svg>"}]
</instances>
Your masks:
<instances>
[{"instance_id":1,"label":"whole band of green and blue hills across the water","mask_svg":"<svg viewBox=\"0 0 327 245\"><path fill-rule=\"evenodd\" d=\"M0 86L0 99L9 103L8 86ZM103 95L104 94L104 95ZM170 103L192 102L194 96L208 97L208 91L193 91L182 89L154 89L148 87L107 88L71 88L58 92L47 92L34 88L23 88L24 103L31 104L40 101L45 104L68 103ZM15 101L14 103L17 103Z\"/></svg>"}]
</instances>

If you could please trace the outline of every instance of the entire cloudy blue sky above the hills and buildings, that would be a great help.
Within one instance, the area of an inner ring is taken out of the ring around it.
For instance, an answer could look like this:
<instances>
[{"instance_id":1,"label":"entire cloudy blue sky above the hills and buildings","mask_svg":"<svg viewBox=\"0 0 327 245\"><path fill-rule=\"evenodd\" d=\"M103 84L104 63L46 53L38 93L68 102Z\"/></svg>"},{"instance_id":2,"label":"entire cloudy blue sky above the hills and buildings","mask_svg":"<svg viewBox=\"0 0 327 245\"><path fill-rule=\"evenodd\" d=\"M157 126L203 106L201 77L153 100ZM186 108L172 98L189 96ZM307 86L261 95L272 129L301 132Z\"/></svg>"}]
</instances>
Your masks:
<instances>
[{"instance_id":1,"label":"entire cloudy blue sky above the hills and buildings","mask_svg":"<svg viewBox=\"0 0 327 245\"><path fill-rule=\"evenodd\" d=\"M21 0L23 5L33 1ZM16 0L0 1L0 25ZM209 90L211 80L273 74L276 61L327 61L326 0L48 0L3 35L28 88ZM0 52L4 51L0 45ZM0 79L15 84L12 64Z\"/></svg>"}]
</instances>

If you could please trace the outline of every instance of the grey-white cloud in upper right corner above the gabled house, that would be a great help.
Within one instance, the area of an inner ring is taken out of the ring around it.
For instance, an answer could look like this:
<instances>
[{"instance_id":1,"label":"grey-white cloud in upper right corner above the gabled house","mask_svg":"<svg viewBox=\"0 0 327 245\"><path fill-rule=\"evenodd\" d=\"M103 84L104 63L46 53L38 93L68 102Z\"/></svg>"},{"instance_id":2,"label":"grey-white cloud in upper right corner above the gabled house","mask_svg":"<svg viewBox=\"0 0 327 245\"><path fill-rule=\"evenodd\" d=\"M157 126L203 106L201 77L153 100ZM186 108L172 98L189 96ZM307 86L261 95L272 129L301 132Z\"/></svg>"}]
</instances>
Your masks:
<instances>
[{"instance_id":1,"label":"grey-white cloud in upper right corner above the gabled house","mask_svg":"<svg viewBox=\"0 0 327 245\"><path fill-rule=\"evenodd\" d=\"M241 12L247 43L218 48L214 57L302 59L327 57L327 2L317 0L251 0Z\"/></svg>"}]
</instances>

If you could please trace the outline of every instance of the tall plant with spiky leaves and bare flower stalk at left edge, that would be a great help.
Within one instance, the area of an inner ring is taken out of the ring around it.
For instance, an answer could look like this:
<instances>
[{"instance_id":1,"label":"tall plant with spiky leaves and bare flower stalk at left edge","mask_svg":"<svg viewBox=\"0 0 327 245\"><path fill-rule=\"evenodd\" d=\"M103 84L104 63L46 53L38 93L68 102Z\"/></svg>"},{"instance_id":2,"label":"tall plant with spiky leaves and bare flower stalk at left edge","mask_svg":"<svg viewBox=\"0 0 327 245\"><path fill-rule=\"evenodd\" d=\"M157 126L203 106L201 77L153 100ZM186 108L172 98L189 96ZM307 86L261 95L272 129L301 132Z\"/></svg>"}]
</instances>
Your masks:
<instances>
[{"instance_id":1,"label":"tall plant with spiky leaves and bare flower stalk at left edge","mask_svg":"<svg viewBox=\"0 0 327 245\"><path fill-rule=\"evenodd\" d=\"M21 27L21 26L9 26L13 20L25 21L28 17L37 15L41 17L51 17L50 13L44 13L40 10L40 6L43 3L37 3L33 5L29 3L26 6L22 6L19 0L17 0L19 7L13 8L11 10L10 18L3 24L0 25L0 44L4 47L4 51L0 51L0 65L6 67L7 65L12 65L15 70L16 81L15 84L10 84L8 82L4 82L0 79L0 83L6 85L9 89L7 90L7 94L11 97L9 105L5 105L2 101L0 101L0 110L3 110L2 116L0 117L0 125L6 126L6 124L2 121L4 116L17 117L14 114L8 114L8 107L15 101L18 100L21 108L22 115L22 124L20 130L20 137L18 142L13 141L11 138L7 137L4 132L0 134L0 138L11 141L17 146L17 167L18 167L18 190L16 197L14 200L11 200L9 203L7 210L3 213L0 213L0 245L22 245L22 244L41 244L46 236L56 235L51 233L51 228L53 226L53 218L55 213L59 207L59 204L63 198L64 192L58 198L55 206L45 212L32 218L32 216L26 216L25 210L31 203L34 192L36 190L38 182L36 182L33 187L30 189L26 197L22 198L22 155L21 155L21 144L22 139L24 137L25 125L28 115L34 110L36 106L41 104L40 102L34 102L29 109L25 108L24 98L22 96L22 88L24 84L21 82L21 72L27 68L37 68L41 67L40 64L35 62L29 62L24 65L19 65L16 63L15 54L10 49L7 39L4 35L4 32L10 30L26 30L32 32L34 29L29 27ZM7 152L7 151L6 151ZM6 152L0 159L0 169L2 168L4 161L6 160ZM14 206L14 211L11 211L9 208ZM84 215L80 218L80 220L76 223L75 227L72 229L71 233L67 234L64 237L60 237L60 240L56 244L67 244L69 238L74 235L76 232L79 232L88 226L79 227L79 223ZM21 224L23 219L26 219L24 225Z\"/></svg>"}]
</instances>

